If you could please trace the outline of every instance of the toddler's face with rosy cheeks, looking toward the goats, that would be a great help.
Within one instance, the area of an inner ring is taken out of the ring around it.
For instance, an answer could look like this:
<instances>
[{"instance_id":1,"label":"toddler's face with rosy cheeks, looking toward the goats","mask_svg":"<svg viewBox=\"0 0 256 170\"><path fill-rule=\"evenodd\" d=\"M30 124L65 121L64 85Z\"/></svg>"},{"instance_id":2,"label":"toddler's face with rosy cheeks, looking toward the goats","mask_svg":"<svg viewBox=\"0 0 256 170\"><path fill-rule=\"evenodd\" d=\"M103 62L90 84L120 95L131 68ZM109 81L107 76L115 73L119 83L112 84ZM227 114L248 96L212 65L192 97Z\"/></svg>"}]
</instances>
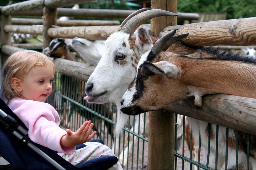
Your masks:
<instances>
[{"instance_id":1,"label":"toddler's face with rosy cheeks, looking toward the goats","mask_svg":"<svg viewBox=\"0 0 256 170\"><path fill-rule=\"evenodd\" d=\"M45 102L52 92L53 66L37 66L21 80L21 96L28 100Z\"/></svg>"}]
</instances>

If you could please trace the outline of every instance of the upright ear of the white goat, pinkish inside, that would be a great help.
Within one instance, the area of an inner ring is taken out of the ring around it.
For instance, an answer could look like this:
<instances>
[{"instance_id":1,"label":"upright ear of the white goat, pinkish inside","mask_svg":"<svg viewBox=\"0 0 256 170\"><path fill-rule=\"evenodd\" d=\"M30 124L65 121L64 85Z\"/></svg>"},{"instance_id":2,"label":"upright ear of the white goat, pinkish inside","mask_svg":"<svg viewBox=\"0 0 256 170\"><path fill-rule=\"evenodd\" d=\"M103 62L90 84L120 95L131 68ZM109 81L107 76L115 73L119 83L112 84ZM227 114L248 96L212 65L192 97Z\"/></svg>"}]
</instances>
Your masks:
<instances>
[{"instance_id":1,"label":"upright ear of the white goat, pinkish inside","mask_svg":"<svg viewBox=\"0 0 256 170\"><path fill-rule=\"evenodd\" d=\"M143 53L150 50L153 45L151 37L144 28L138 29L136 43L138 44L140 51Z\"/></svg>"}]
</instances>

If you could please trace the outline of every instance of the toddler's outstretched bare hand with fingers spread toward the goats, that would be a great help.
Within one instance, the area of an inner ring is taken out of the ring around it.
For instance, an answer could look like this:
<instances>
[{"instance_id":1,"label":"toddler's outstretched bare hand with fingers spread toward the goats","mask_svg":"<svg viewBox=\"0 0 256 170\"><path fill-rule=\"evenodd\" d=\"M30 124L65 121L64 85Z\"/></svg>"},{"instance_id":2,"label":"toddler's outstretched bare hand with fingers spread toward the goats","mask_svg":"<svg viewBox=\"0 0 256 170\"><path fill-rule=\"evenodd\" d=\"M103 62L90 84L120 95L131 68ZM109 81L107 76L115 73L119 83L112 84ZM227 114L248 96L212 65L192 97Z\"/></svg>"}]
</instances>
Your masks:
<instances>
[{"instance_id":1,"label":"toddler's outstretched bare hand with fingers spread toward the goats","mask_svg":"<svg viewBox=\"0 0 256 170\"><path fill-rule=\"evenodd\" d=\"M93 125L92 121L89 120L85 121L76 132L66 129L67 134L61 138L60 145L63 147L73 147L89 141L97 133L96 131L92 133Z\"/></svg>"}]
</instances>

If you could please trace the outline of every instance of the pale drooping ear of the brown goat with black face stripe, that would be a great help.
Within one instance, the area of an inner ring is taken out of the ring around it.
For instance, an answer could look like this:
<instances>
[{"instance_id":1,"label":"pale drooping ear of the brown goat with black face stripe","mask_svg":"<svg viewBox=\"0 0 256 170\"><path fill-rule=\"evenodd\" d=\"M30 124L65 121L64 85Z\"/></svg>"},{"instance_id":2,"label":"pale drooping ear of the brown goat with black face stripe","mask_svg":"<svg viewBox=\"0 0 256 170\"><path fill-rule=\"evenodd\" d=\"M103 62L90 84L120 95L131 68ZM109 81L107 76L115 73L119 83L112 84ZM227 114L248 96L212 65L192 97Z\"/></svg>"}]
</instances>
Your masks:
<instances>
[{"instance_id":1,"label":"pale drooping ear of the brown goat with black face stripe","mask_svg":"<svg viewBox=\"0 0 256 170\"><path fill-rule=\"evenodd\" d=\"M145 61L144 64L155 74L166 74L168 77L175 78L180 73L179 67L168 61L159 61L157 63Z\"/></svg>"}]
</instances>

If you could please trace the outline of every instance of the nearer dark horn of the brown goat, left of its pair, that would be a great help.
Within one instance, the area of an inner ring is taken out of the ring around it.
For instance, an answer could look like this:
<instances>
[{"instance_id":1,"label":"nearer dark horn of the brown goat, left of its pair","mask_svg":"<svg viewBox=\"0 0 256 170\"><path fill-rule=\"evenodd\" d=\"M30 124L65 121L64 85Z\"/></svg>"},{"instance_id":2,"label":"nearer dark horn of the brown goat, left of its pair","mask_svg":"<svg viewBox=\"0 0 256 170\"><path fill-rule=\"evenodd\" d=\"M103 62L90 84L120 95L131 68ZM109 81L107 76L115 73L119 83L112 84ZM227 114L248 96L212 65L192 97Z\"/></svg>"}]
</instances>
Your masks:
<instances>
[{"instance_id":1,"label":"nearer dark horn of the brown goat, left of its pair","mask_svg":"<svg viewBox=\"0 0 256 170\"><path fill-rule=\"evenodd\" d=\"M158 54L162 51L162 49L164 47L166 47L167 45L165 45L165 43L167 43L168 40L170 40L174 34L176 33L176 29L174 29L173 31L165 34L164 36L162 36L160 39L158 39L155 44L153 45L153 47L151 48L151 52L153 54ZM170 46L170 45L169 45ZM168 46L168 47L169 47ZM167 48L168 48L167 47Z\"/></svg>"}]
</instances>

